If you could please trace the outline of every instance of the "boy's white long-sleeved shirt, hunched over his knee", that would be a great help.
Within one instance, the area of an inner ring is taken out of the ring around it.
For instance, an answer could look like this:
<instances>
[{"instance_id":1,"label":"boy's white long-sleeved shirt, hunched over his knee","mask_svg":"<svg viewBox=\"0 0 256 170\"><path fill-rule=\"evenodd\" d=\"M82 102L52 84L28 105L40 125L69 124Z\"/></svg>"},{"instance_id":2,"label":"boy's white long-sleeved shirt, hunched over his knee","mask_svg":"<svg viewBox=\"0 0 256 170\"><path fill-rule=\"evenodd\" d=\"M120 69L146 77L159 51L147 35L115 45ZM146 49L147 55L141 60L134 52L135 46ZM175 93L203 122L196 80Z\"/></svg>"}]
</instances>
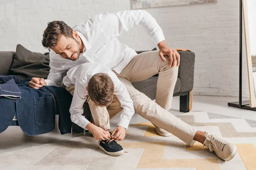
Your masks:
<instances>
[{"instance_id":1,"label":"boy's white long-sleeved shirt, hunched over his knee","mask_svg":"<svg viewBox=\"0 0 256 170\"><path fill-rule=\"evenodd\" d=\"M70 68L70 70L67 71L67 75L63 78L64 85L68 87L75 85L75 91L70 106L71 121L82 128L85 128L87 124L90 123L84 116L82 116L84 113L83 105L88 95L86 86L88 85L90 78L97 73L105 73L111 77L115 86L114 95L116 95L123 108L117 126L122 126L127 129L131 117L134 115L134 105L131 97L126 90L125 85L116 77L116 74L105 65L98 63L89 62Z\"/></svg>"}]
</instances>

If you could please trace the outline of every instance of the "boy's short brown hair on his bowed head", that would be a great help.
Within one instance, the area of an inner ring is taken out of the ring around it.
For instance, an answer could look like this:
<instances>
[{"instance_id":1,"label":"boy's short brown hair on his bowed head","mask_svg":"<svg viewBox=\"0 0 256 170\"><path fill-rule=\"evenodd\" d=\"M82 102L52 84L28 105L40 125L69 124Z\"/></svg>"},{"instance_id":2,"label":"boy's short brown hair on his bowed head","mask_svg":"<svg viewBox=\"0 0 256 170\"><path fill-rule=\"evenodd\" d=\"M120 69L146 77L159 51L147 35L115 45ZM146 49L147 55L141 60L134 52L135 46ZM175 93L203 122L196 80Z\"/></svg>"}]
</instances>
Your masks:
<instances>
[{"instance_id":1,"label":"boy's short brown hair on his bowed head","mask_svg":"<svg viewBox=\"0 0 256 170\"><path fill-rule=\"evenodd\" d=\"M114 83L105 73L94 74L88 82L88 95L95 105L107 107L114 95Z\"/></svg>"}]
</instances>

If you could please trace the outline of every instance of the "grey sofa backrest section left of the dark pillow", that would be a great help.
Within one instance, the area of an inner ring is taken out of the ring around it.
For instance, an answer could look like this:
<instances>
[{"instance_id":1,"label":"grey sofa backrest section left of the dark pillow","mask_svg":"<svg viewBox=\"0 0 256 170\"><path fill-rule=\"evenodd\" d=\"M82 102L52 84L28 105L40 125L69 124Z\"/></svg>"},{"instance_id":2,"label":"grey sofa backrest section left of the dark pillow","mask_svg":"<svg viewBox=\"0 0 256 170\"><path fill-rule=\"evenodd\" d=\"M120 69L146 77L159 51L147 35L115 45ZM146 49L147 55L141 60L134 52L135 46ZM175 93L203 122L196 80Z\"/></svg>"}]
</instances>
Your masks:
<instances>
[{"instance_id":1,"label":"grey sofa backrest section left of the dark pillow","mask_svg":"<svg viewBox=\"0 0 256 170\"><path fill-rule=\"evenodd\" d=\"M0 75L9 75L15 51L0 51Z\"/></svg>"}]
</instances>

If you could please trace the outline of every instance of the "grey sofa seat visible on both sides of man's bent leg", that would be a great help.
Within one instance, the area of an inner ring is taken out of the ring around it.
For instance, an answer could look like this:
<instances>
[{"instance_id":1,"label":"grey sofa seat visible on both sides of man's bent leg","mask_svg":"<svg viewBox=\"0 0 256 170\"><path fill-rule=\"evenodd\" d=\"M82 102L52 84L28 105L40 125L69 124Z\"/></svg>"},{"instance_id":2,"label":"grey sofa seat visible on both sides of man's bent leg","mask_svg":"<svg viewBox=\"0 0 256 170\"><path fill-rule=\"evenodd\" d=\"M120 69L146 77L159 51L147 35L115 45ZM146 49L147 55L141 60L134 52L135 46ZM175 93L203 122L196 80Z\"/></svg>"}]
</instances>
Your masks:
<instances>
[{"instance_id":1,"label":"grey sofa seat visible on both sides of man's bent leg","mask_svg":"<svg viewBox=\"0 0 256 170\"><path fill-rule=\"evenodd\" d=\"M132 85L138 91L144 93L146 96L148 96L150 99L153 100L153 99L156 99L156 94L157 94L157 78L158 77L150 77L140 82L133 82ZM173 94L178 93L179 91L180 91L180 79L177 78L177 82L175 84Z\"/></svg>"}]
</instances>

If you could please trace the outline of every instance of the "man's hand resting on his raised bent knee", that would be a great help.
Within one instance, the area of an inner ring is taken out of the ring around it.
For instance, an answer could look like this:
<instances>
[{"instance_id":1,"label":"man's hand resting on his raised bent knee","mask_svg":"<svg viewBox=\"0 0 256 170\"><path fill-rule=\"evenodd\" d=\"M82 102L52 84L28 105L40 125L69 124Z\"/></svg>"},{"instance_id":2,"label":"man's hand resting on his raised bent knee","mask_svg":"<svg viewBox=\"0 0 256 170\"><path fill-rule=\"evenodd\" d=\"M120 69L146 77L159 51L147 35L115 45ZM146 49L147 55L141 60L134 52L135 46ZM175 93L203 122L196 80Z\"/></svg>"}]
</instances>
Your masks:
<instances>
[{"instance_id":1,"label":"man's hand resting on his raised bent knee","mask_svg":"<svg viewBox=\"0 0 256 170\"><path fill-rule=\"evenodd\" d=\"M166 59L163 56L168 55L170 67L172 66L172 68L174 68L176 61L177 66L180 65L180 54L176 50L169 48L164 40L161 41L157 46L159 48L159 56L164 62L166 62Z\"/></svg>"}]
</instances>

